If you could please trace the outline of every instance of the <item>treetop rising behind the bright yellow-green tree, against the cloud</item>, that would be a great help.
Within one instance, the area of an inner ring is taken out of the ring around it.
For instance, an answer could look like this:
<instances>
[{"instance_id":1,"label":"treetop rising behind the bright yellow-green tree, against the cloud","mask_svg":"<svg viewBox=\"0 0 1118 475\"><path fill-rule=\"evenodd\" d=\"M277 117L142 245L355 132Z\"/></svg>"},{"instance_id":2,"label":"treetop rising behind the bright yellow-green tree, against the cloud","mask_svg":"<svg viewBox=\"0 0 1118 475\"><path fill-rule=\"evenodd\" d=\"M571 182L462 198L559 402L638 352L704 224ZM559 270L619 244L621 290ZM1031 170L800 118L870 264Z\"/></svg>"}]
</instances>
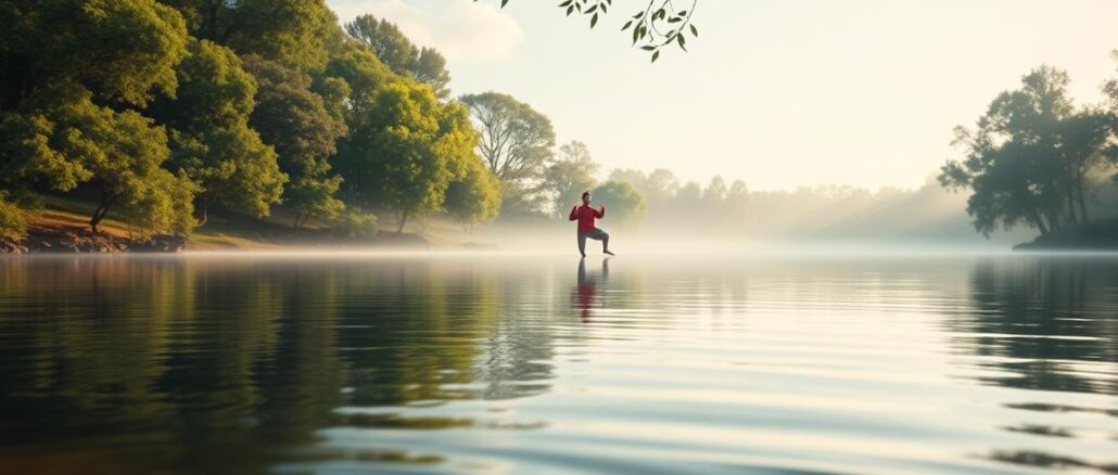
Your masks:
<instances>
[{"instance_id":1,"label":"treetop rising behind the bright yellow-green tree, against the cloud","mask_svg":"<svg viewBox=\"0 0 1118 475\"><path fill-rule=\"evenodd\" d=\"M451 82L446 58L433 48L415 46L395 23L362 15L345 23L345 32L372 49L396 74L430 85L439 98L451 94L446 87Z\"/></svg>"}]
</instances>

